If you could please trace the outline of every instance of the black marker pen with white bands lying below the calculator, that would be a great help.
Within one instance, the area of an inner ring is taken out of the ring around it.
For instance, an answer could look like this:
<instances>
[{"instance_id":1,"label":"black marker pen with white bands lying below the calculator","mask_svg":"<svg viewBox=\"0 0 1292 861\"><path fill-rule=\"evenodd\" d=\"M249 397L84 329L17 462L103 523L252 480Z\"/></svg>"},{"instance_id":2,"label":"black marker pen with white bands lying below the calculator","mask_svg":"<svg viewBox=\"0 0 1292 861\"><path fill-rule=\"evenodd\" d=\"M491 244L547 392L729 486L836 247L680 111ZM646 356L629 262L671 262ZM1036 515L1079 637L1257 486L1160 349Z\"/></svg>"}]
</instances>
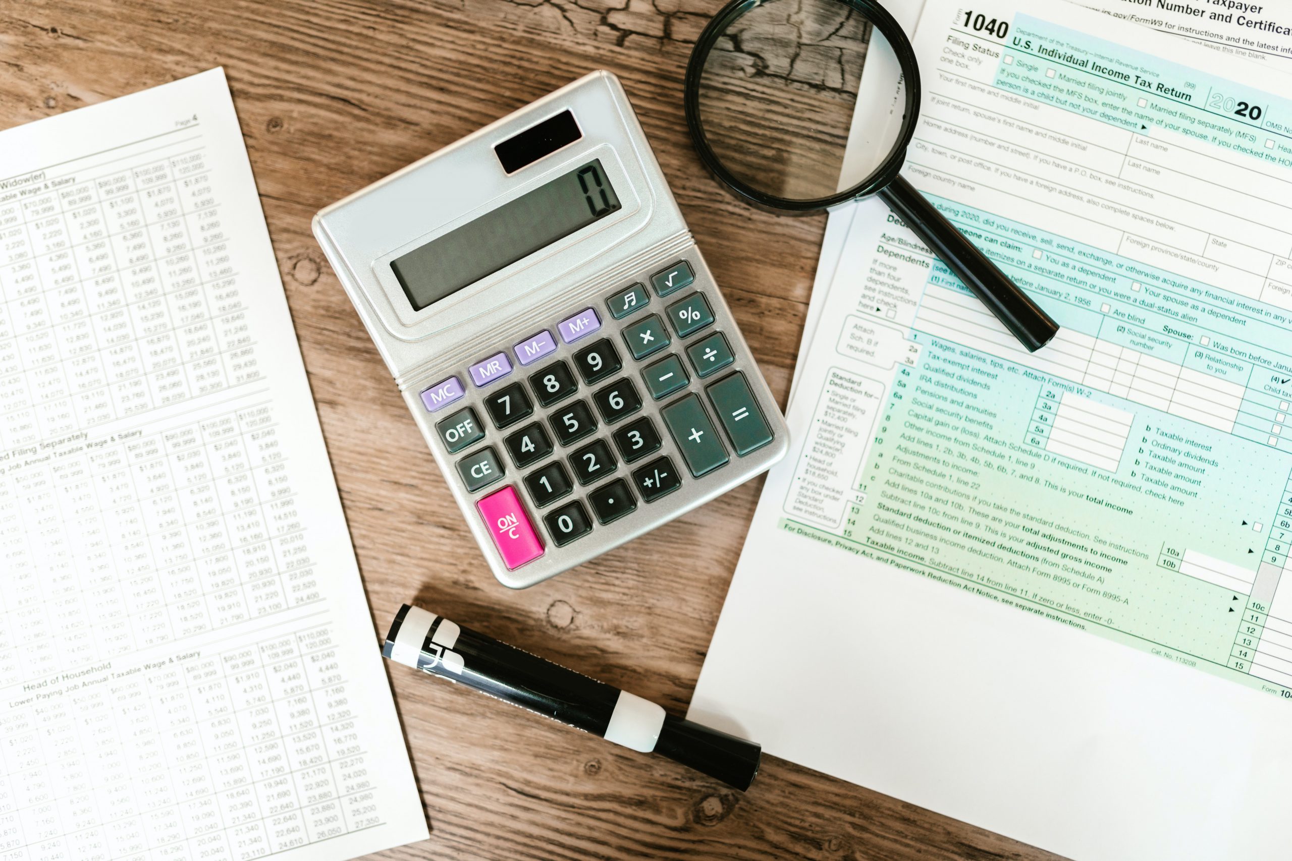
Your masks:
<instances>
[{"instance_id":1,"label":"black marker pen with white bands lying below the calculator","mask_svg":"<svg viewBox=\"0 0 1292 861\"><path fill-rule=\"evenodd\" d=\"M656 753L744 790L762 747L667 714L663 706L567 670L443 616L404 604L381 653L624 747Z\"/></svg>"}]
</instances>

